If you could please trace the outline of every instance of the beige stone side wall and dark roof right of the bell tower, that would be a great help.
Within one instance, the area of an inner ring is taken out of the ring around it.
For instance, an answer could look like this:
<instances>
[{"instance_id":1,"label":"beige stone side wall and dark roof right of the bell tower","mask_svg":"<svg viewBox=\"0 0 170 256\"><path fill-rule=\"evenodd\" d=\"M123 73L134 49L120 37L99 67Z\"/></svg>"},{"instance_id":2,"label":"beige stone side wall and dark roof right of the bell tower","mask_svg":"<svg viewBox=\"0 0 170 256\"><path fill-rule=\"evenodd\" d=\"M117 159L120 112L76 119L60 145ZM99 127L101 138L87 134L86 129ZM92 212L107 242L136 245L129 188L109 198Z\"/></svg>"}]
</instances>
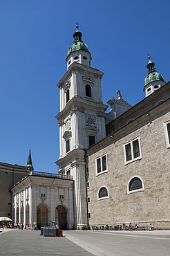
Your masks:
<instances>
[{"instance_id":1,"label":"beige stone side wall and dark roof right of the bell tower","mask_svg":"<svg viewBox=\"0 0 170 256\"><path fill-rule=\"evenodd\" d=\"M91 226L131 222L170 228L170 151L164 129L164 124L170 122L169 108L170 83L167 83L111 122L109 135L86 150ZM136 138L140 141L140 158L126 163L124 145ZM98 175L96 161L104 155L107 170ZM129 182L134 177L142 181L142 188L129 191ZM99 199L102 187L106 187L108 195Z\"/></svg>"}]
</instances>

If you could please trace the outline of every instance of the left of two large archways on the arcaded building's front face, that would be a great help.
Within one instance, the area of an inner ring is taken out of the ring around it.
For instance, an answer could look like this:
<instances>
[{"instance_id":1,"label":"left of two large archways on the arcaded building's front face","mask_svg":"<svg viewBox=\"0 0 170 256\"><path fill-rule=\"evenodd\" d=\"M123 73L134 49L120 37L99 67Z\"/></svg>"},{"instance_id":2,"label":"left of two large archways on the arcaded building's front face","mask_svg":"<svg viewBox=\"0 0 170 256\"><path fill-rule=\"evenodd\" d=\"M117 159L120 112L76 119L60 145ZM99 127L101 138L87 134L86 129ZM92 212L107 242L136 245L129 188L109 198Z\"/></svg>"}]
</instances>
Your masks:
<instances>
[{"instance_id":1,"label":"left of two large archways on the arcaded building's front face","mask_svg":"<svg viewBox=\"0 0 170 256\"><path fill-rule=\"evenodd\" d=\"M48 223L48 208L44 204L37 207L37 226L47 225Z\"/></svg>"}]
</instances>

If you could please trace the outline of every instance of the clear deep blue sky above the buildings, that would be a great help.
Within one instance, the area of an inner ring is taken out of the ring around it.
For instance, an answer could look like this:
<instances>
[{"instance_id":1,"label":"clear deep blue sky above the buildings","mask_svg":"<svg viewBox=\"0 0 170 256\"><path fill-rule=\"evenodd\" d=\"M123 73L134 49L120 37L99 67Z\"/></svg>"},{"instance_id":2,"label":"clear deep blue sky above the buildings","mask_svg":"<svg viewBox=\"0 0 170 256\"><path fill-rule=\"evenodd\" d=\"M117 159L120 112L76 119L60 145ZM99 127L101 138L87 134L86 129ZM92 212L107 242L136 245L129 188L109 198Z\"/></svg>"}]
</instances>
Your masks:
<instances>
[{"instance_id":1,"label":"clear deep blue sky above the buildings","mask_svg":"<svg viewBox=\"0 0 170 256\"><path fill-rule=\"evenodd\" d=\"M0 0L0 161L26 165L29 145L35 170L57 172L57 82L75 22L104 72L103 102L120 89L124 100L144 98L147 53L170 80L169 0Z\"/></svg>"}]
</instances>

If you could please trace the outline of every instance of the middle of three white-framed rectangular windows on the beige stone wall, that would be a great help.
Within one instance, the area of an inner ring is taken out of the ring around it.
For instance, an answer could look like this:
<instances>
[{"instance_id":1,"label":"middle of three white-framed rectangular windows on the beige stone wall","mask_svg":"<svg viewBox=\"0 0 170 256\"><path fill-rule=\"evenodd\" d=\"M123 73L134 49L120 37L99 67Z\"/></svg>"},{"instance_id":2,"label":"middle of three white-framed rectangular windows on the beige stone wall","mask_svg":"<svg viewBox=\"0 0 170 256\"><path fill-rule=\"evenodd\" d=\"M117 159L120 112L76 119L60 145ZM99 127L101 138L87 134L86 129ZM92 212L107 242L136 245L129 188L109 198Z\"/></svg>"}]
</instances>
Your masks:
<instances>
[{"instance_id":1,"label":"middle of three white-framed rectangular windows on the beige stone wall","mask_svg":"<svg viewBox=\"0 0 170 256\"><path fill-rule=\"evenodd\" d=\"M140 149L140 137L124 144L125 164L142 158Z\"/></svg>"}]
</instances>

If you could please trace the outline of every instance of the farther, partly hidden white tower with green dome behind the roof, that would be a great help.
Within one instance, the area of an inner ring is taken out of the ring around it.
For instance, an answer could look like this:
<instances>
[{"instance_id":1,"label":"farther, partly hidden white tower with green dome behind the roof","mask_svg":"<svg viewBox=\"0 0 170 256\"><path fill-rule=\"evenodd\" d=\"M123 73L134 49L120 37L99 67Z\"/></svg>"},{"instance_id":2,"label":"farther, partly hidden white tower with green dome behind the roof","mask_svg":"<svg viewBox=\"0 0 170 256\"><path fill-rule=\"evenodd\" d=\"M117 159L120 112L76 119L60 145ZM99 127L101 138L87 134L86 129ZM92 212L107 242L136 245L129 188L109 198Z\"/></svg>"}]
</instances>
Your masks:
<instances>
[{"instance_id":1,"label":"farther, partly hidden white tower with green dome behind the roof","mask_svg":"<svg viewBox=\"0 0 170 256\"><path fill-rule=\"evenodd\" d=\"M158 90L160 87L162 87L164 82L164 77L160 75L160 73L157 73L155 70L155 63L151 62L151 56L148 56L149 62L147 64L148 68L148 75L144 79L144 93L145 97L149 96L151 93L154 93L154 91Z\"/></svg>"}]
</instances>

